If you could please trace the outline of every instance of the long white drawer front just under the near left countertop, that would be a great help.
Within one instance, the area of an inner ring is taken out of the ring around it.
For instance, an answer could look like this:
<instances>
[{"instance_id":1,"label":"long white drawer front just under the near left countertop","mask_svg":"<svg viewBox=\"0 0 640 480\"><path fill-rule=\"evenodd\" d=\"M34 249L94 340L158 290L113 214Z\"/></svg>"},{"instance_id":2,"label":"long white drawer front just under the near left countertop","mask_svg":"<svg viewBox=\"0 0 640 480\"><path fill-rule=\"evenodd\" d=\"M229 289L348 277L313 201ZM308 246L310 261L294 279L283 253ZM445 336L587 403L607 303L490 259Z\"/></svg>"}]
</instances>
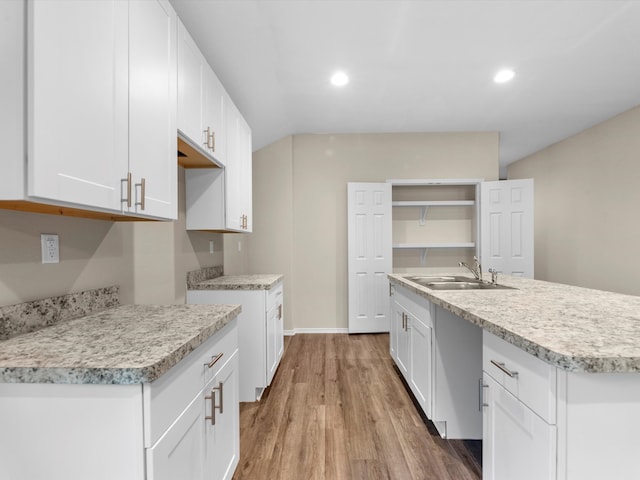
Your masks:
<instances>
[{"instance_id":1,"label":"long white drawer front just under the near left countertop","mask_svg":"<svg viewBox=\"0 0 640 480\"><path fill-rule=\"evenodd\" d=\"M143 385L145 447L160 438L233 355L237 331L234 319L155 382Z\"/></svg>"}]
</instances>

